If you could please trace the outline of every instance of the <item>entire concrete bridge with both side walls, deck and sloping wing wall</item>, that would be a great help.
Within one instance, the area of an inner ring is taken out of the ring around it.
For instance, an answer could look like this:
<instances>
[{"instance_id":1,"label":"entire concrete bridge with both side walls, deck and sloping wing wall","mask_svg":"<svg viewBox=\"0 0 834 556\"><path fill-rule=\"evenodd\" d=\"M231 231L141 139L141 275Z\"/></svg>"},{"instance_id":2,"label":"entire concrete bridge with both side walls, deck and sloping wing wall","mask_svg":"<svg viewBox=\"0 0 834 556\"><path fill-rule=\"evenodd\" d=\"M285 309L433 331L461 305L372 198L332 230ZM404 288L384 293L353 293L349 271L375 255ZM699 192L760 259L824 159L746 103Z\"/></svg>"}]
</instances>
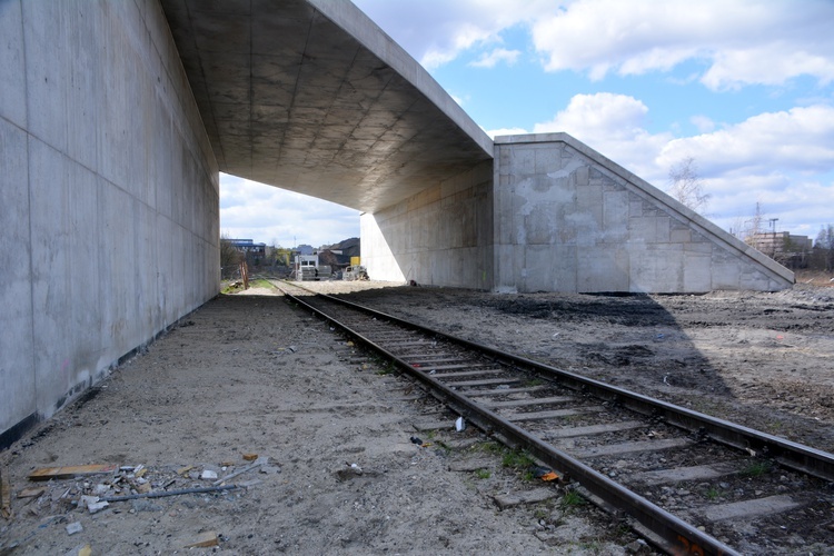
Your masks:
<instances>
[{"instance_id":1,"label":"entire concrete bridge with both side walls, deck and sloping wing wall","mask_svg":"<svg viewBox=\"0 0 834 556\"><path fill-rule=\"evenodd\" d=\"M375 279L777 290L564 133L493 141L344 0L0 1L0 448L219 288L219 171L364 211Z\"/></svg>"}]
</instances>

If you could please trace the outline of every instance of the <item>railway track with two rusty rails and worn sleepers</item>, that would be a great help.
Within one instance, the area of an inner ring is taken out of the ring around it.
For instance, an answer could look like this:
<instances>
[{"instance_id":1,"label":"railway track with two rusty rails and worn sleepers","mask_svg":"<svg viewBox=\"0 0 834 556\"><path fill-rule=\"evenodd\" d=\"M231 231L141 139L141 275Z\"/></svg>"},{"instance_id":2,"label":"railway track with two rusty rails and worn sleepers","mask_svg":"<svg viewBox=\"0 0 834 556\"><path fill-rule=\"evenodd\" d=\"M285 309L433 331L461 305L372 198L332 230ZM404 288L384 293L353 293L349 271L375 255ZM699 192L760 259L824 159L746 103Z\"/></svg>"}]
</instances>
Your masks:
<instances>
[{"instance_id":1,"label":"railway track with two rusty rails and worn sleepers","mask_svg":"<svg viewBox=\"0 0 834 556\"><path fill-rule=\"evenodd\" d=\"M796 527L803 544L834 553L832 454L279 287L669 554L791 554Z\"/></svg>"}]
</instances>

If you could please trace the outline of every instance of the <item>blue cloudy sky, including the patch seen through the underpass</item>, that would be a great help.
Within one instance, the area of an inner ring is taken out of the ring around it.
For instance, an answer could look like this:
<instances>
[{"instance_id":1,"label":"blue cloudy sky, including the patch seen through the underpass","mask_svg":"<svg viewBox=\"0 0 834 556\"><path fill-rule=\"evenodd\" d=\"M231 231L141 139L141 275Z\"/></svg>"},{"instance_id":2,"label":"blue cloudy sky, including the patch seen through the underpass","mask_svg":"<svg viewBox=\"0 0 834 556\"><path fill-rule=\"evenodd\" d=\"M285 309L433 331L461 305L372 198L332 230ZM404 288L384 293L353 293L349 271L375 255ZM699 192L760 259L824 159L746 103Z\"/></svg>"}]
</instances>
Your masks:
<instances>
[{"instance_id":1,"label":"blue cloudy sky, including the patch seen through the underpass","mask_svg":"<svg viewBox=\"0 0 834 556\"><path fill-rule=\"evenodd\" d=\"M492 137L564 131L662 190L692 158L725 230L757 203L764 231L834 224L834 0L354 3ZM229 237L359 236L353 209L220 183Z\"/></svg>"}]
</instances>

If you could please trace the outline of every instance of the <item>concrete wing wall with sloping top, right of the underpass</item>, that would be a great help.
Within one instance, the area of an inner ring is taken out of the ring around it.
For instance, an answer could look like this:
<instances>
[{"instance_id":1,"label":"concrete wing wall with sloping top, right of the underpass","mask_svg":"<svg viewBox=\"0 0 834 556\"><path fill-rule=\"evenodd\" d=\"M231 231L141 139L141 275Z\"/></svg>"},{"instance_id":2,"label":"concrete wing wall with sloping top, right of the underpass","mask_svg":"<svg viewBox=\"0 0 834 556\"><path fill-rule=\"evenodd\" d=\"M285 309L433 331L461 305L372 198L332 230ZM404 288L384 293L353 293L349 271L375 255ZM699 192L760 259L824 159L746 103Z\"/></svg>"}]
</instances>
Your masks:
<instances>
[{"instance_id":1,"label":"concrete wing wall with sloping top, right of the underpass","mask_svg":"<svg viewBox=\"0 0 834 556\"><path fill-rule=\"evenodd\" d=\"M773 291L793 272L565 133L495 139L495 289Z\"/></svg>"}]
</instances>

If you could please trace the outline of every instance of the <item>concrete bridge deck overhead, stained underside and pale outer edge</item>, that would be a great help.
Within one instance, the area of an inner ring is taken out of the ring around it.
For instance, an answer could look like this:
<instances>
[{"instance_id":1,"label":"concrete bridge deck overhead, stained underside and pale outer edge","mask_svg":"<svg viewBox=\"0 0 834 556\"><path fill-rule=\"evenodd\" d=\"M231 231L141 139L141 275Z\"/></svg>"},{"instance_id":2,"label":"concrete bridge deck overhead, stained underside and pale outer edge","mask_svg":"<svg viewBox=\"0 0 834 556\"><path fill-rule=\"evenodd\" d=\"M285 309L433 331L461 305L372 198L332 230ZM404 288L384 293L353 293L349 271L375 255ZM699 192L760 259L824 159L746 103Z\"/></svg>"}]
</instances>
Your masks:
<instances>
[{"instance_id":1,"label":"concrete bridge deck overhead, stained underside and pale outer edge","mask_svg":"<svg viewBox=\"0 0 834 556\"><path fill-rule=\"evenodd\" d=\"M374 212L493 153L347 0L161 0L220 170Z\"/></svg>"}]
</instances>

